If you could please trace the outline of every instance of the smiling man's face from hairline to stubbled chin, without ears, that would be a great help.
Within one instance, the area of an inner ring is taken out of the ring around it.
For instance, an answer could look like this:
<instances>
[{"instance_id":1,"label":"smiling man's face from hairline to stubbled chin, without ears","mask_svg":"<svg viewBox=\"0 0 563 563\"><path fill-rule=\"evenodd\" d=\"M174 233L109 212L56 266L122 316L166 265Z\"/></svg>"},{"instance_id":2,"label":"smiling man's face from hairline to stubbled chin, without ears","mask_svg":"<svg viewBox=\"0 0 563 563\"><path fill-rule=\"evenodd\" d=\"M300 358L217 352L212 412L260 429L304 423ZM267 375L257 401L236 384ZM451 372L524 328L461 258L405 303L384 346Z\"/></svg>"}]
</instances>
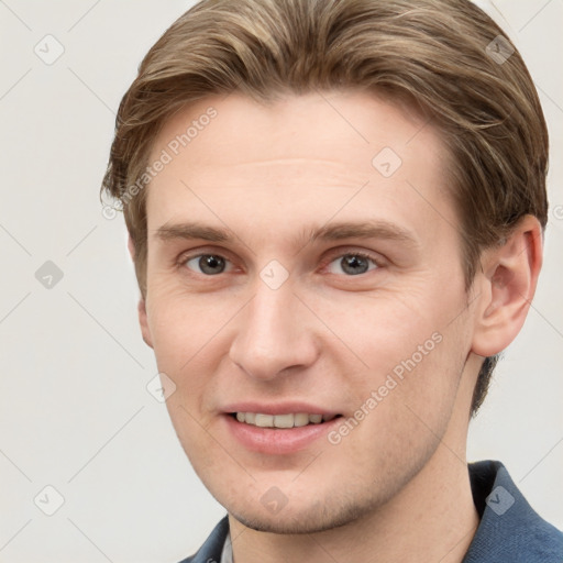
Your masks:
<instances>
[{"instance_id":1,"label":"smiling man's face from hairline to stubbled chin, without ears","mask_svg":"<svg viewBox=\"0 0 563 563\"><path fill-rule=\"evenodd\" d=\"M328 529L437 456L460 464L472 313L435 131L366 92L271 107L233 93L175 115L151 162L163 150L143 334L176 385L179 440L229 512Z\"/></svg>"}]
</instances>

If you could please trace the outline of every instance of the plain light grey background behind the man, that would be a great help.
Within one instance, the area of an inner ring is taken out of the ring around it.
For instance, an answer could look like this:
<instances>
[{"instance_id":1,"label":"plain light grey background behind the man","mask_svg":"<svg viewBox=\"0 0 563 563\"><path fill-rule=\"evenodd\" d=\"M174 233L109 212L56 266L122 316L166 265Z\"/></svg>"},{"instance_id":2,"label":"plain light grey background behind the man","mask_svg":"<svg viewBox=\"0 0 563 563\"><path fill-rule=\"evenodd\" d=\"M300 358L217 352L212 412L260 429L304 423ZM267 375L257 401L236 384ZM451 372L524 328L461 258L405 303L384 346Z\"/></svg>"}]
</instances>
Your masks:
<instances>
[{"instance_id":1,"label":"plain light grey background behind the man","mask_svg":"<svg viewBox=\"0 0 563 563\"><path fill-rule=\"evenodd\" d=\"M156 364L137 327L123 220L98 200L119 101L191 4L0 0L1 562L175 562L224 514L145 388ZM479 4L538 86L552 209L538 295L472 424L470 459L504 461L563 528L563 2ZM34 52L48 60L58 44L49 65ZM51 289L35 277L46 261L64 274Z\"/></svg>"}]
</instances>

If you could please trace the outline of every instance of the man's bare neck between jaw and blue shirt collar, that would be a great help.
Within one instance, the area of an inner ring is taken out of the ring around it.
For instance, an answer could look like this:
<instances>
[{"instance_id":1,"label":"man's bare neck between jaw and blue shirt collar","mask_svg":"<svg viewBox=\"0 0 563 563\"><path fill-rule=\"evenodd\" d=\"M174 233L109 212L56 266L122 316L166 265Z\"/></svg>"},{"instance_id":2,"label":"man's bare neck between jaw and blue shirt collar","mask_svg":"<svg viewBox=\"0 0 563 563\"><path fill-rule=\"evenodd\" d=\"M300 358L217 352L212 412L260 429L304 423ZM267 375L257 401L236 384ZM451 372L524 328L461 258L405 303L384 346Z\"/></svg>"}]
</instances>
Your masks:
<instances>
[{"instance_id":1,"label":"man's bare neck between jaw and blue shirt collar","mask_svg":"<svg viewBox=\"0 0 563 563\"><path fill-rule=\"evenodd\" d=\"M461 449L454 453L448 443L446 433L430 461L390 501L340 528L275 534L229 516L235 563L461 563L478 516L463 452L460 456Z\"/></svg>"}]
</instances>

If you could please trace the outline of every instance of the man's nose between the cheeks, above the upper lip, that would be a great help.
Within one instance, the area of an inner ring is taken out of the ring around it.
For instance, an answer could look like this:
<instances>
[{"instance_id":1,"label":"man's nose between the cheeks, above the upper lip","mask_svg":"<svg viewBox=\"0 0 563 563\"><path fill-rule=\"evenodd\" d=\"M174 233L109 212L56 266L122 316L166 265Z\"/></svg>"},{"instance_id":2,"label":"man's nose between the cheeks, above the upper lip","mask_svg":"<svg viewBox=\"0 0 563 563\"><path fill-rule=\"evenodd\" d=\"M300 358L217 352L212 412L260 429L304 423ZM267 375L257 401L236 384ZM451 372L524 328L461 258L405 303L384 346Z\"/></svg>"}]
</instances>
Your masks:
<instances>
[{"instance_id":1,"label":"man's nose between the cheeks, above the upper lip","mask_svg":"<svg viewBox=\"0 0 563 563\"><path fill-rule=\"evenodd\" d=\"M261 380L310 366L318 355L310 317L289 284L272 289L258 280L254 298L238 316L230 358Z\"/></svg>"}]
</instances>

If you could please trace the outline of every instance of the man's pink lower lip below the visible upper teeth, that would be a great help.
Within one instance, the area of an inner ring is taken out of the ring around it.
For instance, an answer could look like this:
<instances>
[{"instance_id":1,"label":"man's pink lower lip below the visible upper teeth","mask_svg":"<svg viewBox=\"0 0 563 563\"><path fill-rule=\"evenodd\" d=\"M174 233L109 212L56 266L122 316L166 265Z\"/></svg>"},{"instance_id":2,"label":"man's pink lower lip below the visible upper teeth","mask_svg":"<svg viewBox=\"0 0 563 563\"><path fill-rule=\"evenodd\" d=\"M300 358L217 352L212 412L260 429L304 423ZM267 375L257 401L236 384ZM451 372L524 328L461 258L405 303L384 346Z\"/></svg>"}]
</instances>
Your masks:
<instances>
[{"instance_id":1,"label":"man's pink lower lip below the visible upper teeth","mask_svg":"<svg viewBox=\"0 0 563 563\"><path fill-rule=\"evenodd\" d=\"M224 415L223 418L229 431L244 448L252 452L268 454L286 454L306 450L340 423L340 417L338 417L319 424L277 429L239 422L231 415Z\"/></svg>"}]
</instances>

